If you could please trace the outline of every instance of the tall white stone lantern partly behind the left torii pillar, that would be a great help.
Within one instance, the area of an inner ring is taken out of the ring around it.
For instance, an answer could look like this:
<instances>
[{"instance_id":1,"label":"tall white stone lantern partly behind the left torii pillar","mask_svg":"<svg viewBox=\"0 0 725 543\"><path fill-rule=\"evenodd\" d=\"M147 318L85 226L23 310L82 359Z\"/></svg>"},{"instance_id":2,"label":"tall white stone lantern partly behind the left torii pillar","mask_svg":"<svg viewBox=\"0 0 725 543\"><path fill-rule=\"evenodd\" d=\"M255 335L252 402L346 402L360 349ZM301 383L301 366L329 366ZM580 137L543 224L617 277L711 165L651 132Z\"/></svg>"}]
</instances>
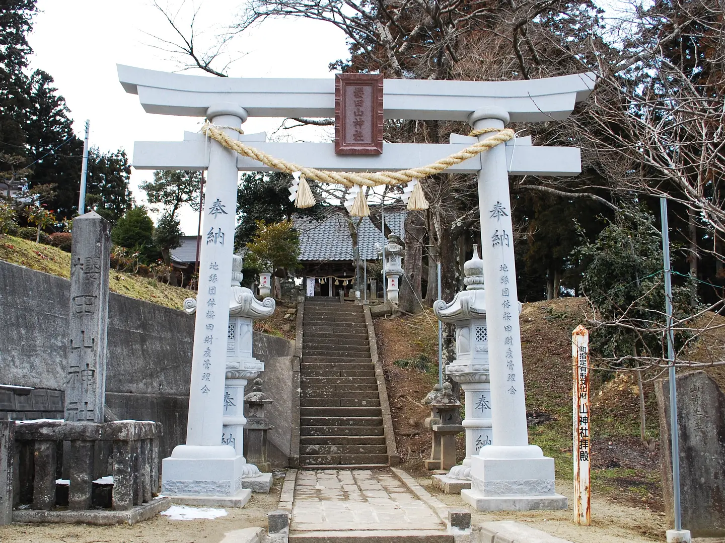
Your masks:
<instances>
[{"instance_id":1,"label":"tall white stone lantern partly behind the left torii pillar","mask_svg":"<svg viewBox=\"0 0 725 543\"><path fill-rule=\"evenodd\" d=\"M237 455L243 456L244 425L247 424L247 418L244 418L244 387L247 386L249 379L254 379L265 369L264 363L254 358L252 354L252 324L255 319L266 319L271 316L276 303L273 298L257 300L252 290L242 287L241 268L241 256L233 255L221 445L231 445ZM184 308L187 313L194 314L196 300L187 298L184 300ZM271 476L268 473L260 473L252 463L248 463L247 466L250 466L251 472L247 474L243 486L252 488L256 492L269 492L272 484Z\"/></svg>"}]
</instances>

